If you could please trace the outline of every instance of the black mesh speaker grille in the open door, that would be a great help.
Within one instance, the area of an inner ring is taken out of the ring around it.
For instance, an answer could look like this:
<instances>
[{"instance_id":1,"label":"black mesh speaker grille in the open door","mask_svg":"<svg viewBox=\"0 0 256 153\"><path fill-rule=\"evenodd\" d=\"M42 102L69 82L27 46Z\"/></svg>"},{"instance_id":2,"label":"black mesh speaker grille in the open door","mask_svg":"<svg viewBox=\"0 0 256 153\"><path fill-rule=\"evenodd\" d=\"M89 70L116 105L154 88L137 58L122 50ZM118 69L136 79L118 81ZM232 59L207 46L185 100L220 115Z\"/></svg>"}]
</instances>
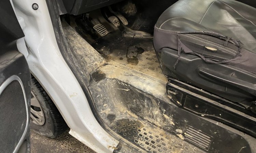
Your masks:
<instances>
[{"instance_id":1,"label":"black mesh speaker grille in the open door","mask_svg":"<svg viewBox=\"0 0 256 153\"><path fill-rule=\"evenodd\" d=\"M12 153L21 139L27 123L23 90L12 81L0 95L0 153Z\"/></svg>"}]
</instances>

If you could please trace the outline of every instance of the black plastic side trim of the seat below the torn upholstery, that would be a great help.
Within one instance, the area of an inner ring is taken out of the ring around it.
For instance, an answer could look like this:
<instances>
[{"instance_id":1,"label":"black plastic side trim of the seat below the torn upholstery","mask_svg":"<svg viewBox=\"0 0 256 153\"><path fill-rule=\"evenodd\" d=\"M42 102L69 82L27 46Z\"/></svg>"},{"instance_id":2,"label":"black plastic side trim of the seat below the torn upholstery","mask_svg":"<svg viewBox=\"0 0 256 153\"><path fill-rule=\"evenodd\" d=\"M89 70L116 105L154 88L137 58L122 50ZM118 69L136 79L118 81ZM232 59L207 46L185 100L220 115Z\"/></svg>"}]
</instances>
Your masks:
<instances>
[{"instance_id":1,"label":"black plastic side trim of the seat below the torn upholstery","mask_svg":"<svg viewBox=\"0 0 256 153\"><path fill-rule=\"evenodd\" d=\"M174 68L177 58L176 50L162 49L160 61L163 73L167 76L188 82L232 102L250 106L255 101L252 89L256 84L255 74L227 64L206 63L200 57L186 53L181 53L180 61ZM225 77L226 80L223 79Z\"/></svg>"}]
</instances>

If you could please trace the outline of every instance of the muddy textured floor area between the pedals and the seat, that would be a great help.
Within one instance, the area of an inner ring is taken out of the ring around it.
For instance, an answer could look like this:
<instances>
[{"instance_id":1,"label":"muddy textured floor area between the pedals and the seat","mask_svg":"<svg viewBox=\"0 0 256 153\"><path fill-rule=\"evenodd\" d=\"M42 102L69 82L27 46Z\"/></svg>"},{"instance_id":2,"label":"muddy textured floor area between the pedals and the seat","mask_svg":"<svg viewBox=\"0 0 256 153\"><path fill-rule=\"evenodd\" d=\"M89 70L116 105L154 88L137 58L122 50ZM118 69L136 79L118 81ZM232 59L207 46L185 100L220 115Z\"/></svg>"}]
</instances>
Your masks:
<instances>
[{"instance_id":1,"label":"muddy textured floor area between the pedals and the seat","mask_svg":"<svg viewBox=\"0 0 256 153\"><path fill-rule=\"evenodd\" d=\"M91 46L111 64L116 62L166 81L153 47L153 38L123 37L121 31L115 31L97 40Z\"/></svg>"}]
</instances>

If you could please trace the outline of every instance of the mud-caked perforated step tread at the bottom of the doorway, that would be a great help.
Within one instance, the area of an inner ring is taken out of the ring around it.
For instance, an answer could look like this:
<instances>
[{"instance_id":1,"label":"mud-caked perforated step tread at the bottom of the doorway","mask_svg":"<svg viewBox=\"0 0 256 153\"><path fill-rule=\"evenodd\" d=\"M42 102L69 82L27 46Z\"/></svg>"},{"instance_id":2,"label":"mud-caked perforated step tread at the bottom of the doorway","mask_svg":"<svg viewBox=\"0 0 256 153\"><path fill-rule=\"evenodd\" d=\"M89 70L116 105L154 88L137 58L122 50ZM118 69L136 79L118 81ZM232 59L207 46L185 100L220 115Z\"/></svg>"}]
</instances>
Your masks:
<instances>
[{"instance_id":1,"label":"mud-caked perforated step tread at the bottom of the doorway","mask_svg":"<svg viewBox=\"0 0 256 153\"><path fill-rule=\"evenodd\" d=\"M139 121L130 121L129 119L124 119L114 123L111 128L117 134L147 152L180 152L180 149L185 147L177 145L177 143L180 141L174 139L175 136L171 136L169 133L165 133L159 129L149 128ZM178 146L178 148L176 148L174 144Z\"/></svg>"}]
</instances>

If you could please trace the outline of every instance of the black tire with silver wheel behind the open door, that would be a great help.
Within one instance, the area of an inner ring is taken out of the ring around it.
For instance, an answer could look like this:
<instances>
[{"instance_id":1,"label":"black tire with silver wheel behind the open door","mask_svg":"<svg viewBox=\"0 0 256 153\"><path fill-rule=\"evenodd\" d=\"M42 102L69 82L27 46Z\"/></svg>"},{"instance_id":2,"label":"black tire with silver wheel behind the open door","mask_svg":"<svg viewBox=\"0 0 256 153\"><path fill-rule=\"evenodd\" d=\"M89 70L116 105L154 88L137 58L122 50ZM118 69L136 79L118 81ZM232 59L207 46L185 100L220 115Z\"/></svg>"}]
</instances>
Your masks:
<instances>
[{"instance_id":1,"label":"black tire with silver wheel behind the open door","mask_svg":"<svg viewBox=\"0 0 256 153\"><path fill-rule=\"evenodd\" d=\"M35 102L40 105L35 104ZM32 75L30 112L30 127L40 135L55 138L68 129L57 107L40 83Z\"/></svg>"}]
</instances>

